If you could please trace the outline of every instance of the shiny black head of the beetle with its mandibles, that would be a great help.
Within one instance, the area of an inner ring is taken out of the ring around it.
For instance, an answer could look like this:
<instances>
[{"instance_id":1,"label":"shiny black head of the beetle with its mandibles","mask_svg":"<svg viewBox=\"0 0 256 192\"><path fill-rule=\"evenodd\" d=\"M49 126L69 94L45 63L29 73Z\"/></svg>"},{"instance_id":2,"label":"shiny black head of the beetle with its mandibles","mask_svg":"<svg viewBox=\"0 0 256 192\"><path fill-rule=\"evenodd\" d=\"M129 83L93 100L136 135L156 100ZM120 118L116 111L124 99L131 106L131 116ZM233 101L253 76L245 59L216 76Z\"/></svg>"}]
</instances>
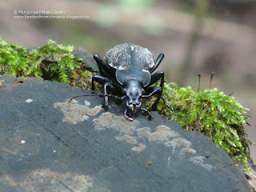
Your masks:
<instances>
[{"instance_id":1,"label":"shiny black head of the beetle with its mandibles","mask_svg":"<svg viewBox=\"0 0 256 192\"><path fill-rule=\"evenodd\" d=\"M144 89L137 78L131 78L124 84L122 90L126 94L126 107L132 114L137 114L142 107L142 94Z\"/></svg>"}]
</instances>

